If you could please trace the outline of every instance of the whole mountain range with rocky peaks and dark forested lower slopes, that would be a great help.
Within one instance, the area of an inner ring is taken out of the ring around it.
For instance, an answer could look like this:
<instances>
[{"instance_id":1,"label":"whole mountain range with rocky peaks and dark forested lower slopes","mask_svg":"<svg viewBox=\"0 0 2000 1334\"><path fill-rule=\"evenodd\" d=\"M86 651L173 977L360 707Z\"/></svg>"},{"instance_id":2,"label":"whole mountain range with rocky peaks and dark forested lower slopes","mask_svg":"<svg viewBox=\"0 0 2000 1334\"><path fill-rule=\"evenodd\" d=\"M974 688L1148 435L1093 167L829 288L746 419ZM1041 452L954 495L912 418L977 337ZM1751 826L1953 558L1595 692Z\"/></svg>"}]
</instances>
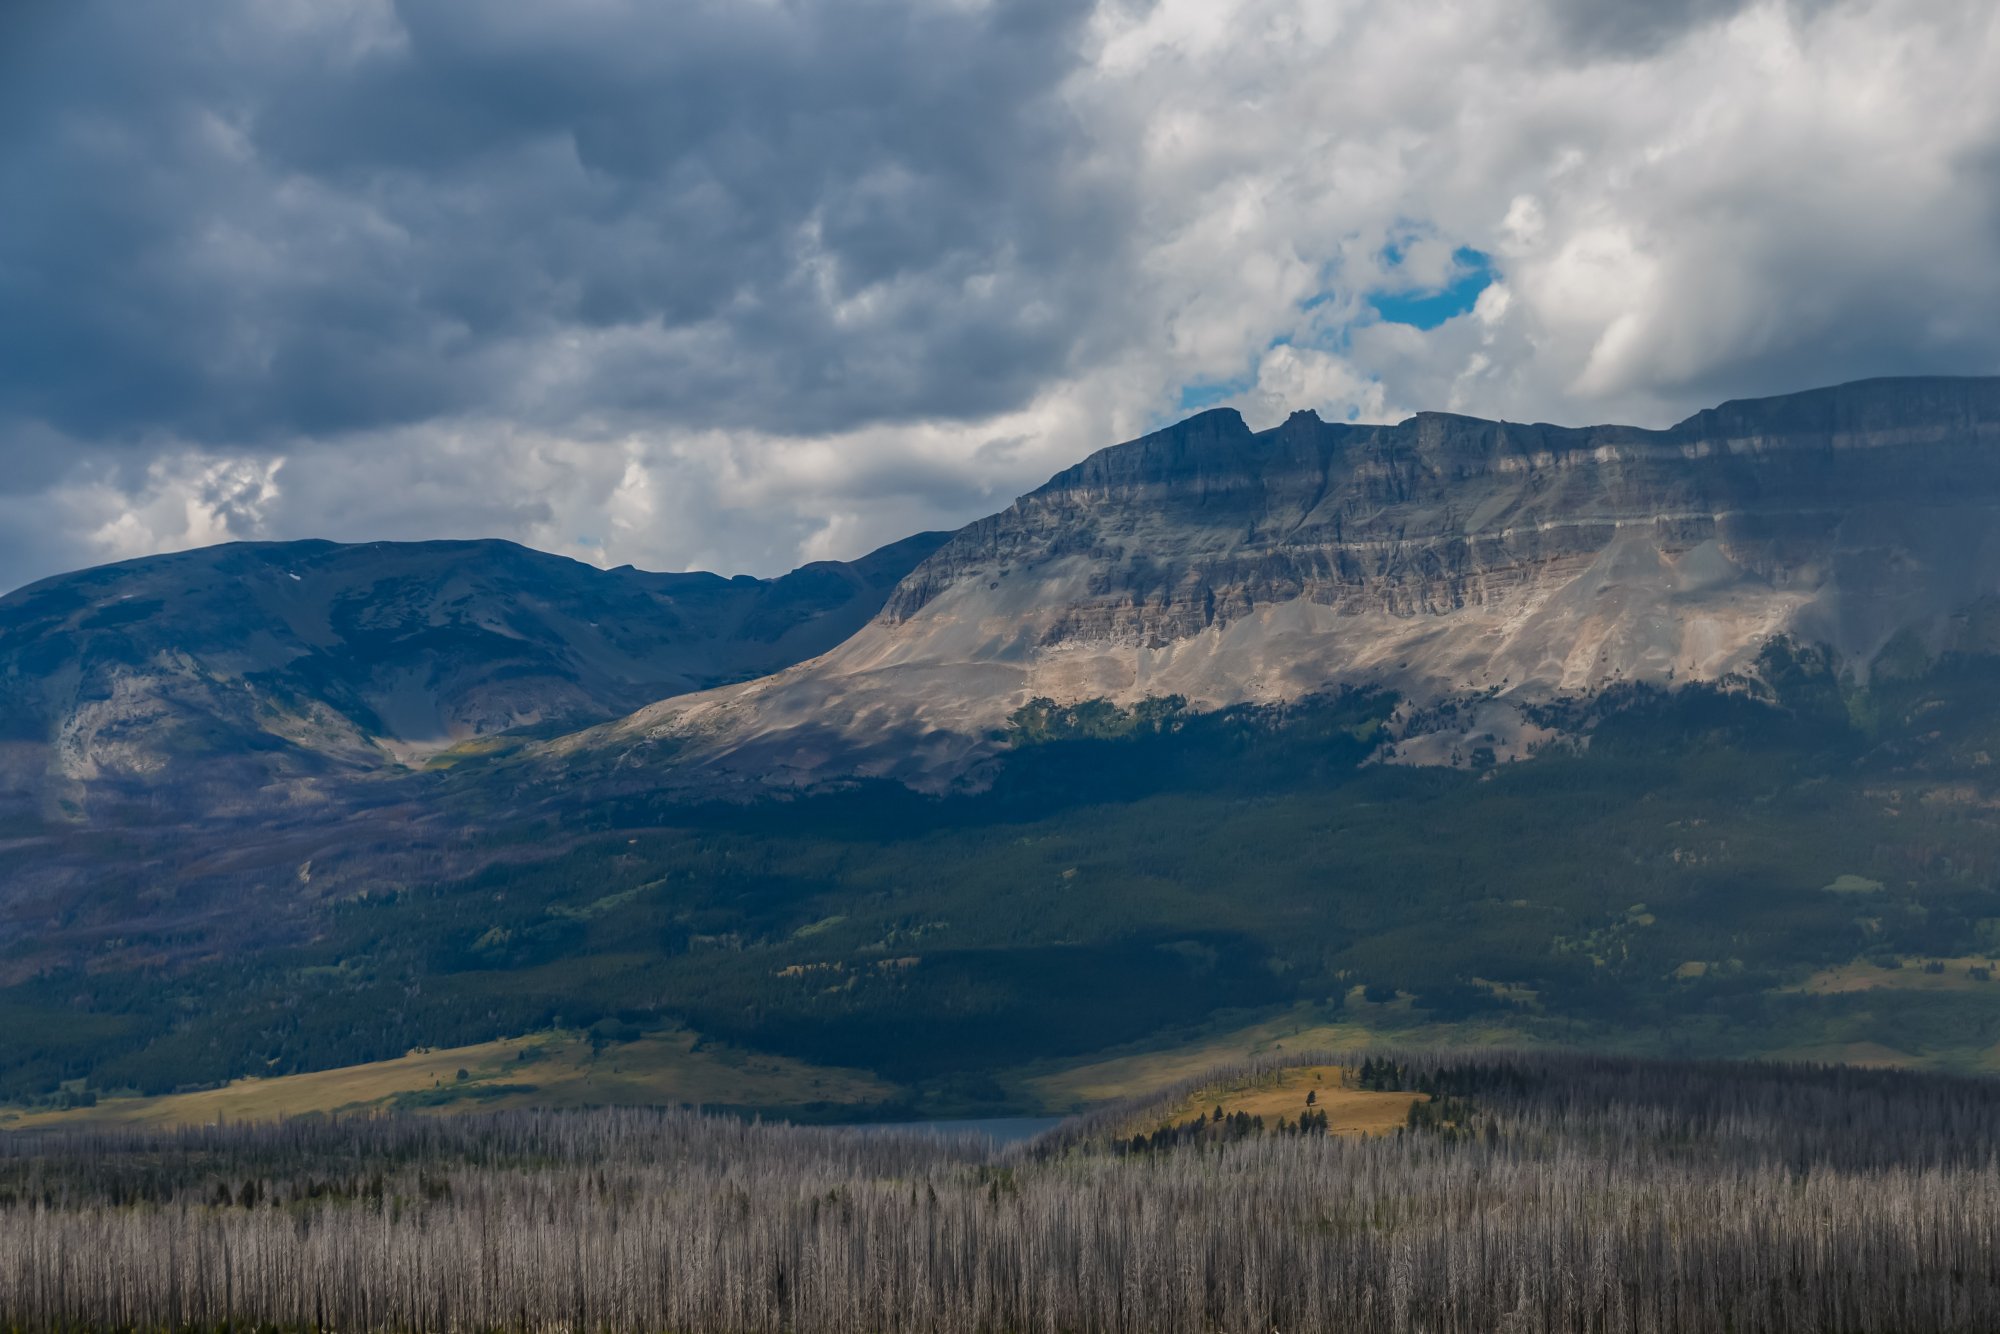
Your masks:
<instances>
[{"instance_id":1,"label":"whole mountain range with rocky peaks and dark forested lower slopes","mask_svg":"<svg viewBox=\"0 0 2000 1334\"><path fill-rule=\"evenodd\" d=\"M1990 1068L1996 446L2000 380L1208 412L772 584L492 544L54 580L0 604L42 800L0 810L0 1100L552 1030L908 1118L1232 1026Z\"/></svg>"}]
</instances>

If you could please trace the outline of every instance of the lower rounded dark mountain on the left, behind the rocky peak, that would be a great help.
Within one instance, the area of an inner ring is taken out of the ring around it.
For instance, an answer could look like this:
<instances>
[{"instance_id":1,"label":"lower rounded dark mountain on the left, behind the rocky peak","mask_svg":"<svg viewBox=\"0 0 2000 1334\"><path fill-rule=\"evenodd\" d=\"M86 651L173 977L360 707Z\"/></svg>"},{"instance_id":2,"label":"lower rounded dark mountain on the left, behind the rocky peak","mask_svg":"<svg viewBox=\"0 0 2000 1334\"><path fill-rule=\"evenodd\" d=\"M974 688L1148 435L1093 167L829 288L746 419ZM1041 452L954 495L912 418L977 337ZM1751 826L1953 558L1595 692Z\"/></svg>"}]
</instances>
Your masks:
<instances>
[{"instance_id":1,"label":"lower rounded dark mountain on the left, behind the rocky peak","mask_svg":"<svg viewBox=\"0 0 2000 1334\"><path fill-rule=\"evenodd\" d=\"M236 542L0 598L0 792L270 800L570 730L832 648L944 534L784 578L512 542Z\"/></svg>"}]
</instances>

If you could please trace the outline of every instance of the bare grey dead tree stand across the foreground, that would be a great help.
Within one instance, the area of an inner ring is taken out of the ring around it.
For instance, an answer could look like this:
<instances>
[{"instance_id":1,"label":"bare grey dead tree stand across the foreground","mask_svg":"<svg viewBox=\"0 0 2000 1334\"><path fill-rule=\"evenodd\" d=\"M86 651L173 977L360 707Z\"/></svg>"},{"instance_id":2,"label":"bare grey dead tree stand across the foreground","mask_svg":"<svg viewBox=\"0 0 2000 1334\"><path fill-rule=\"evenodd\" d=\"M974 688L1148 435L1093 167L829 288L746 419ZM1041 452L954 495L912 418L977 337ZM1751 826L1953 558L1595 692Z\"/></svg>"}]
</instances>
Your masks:
<instances>
[{"instance_id":1,"label":"bare grey dead tree stand across the foreground","mask_svg":"<svg viewBox=\"0 0 2000 1334\"><path fill-rule=\"evenodd\" d=\"M1394 1068L1480 1134L1112 1152L1152 1104L1016 1150L688 1112L14 1136L0 1326L2000 1328L2000 1084Z\"/></svg>"}]
</instances>

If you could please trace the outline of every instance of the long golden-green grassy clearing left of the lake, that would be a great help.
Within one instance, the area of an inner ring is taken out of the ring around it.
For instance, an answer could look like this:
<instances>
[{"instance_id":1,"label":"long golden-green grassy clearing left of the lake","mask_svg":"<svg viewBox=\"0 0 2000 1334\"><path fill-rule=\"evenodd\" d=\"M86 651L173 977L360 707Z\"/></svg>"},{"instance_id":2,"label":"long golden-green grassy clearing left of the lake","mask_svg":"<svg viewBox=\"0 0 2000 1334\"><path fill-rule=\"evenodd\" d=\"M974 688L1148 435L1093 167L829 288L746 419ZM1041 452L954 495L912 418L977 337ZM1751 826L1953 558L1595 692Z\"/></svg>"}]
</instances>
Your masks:
<instances>
[{"instance_id":1,"label":"long golden-green grassy clearing left of the lake","mask_svg":"<svg viewBox=\"0 0 2000 1334\"><path fill-rule=\"evenodd\" d=\"M578 1034L532 1034L410 1052L366 1066L236 1080L188 1094L104 1098L94 1108L0 1110L0 1128L204 1126L388 1106L438 1112L652 1104L782 1110L814 1102L870 1104L898 1092L860 1070L710 1044L694 1050L696 1042L686 1030L660 1032L592 1054Z\"/></svg>"}]
</instances>

